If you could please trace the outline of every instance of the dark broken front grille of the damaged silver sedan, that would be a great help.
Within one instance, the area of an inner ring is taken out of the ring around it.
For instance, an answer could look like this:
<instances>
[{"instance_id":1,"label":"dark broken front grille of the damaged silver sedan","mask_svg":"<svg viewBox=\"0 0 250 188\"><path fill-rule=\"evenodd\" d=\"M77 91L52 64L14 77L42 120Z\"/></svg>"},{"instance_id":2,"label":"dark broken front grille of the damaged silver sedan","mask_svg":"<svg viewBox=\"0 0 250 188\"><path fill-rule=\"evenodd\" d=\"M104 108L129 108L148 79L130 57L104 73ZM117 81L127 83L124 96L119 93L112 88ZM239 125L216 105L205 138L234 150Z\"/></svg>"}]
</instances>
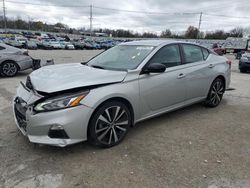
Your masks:
<instances>
[{"instance_id":1,"label":"dark broken front grille of the damaged silver sedan","mask_svg":"<svg viewBox=\"0 0 250 188\"><path fill-rule=\"evenodd\" d=\"M15 100L14 111L19 127L26 131L27 122L25 113L27 111L27 108L25 106L22 106L22 103L19 98Z\"/></svg>"}]
</instances>

